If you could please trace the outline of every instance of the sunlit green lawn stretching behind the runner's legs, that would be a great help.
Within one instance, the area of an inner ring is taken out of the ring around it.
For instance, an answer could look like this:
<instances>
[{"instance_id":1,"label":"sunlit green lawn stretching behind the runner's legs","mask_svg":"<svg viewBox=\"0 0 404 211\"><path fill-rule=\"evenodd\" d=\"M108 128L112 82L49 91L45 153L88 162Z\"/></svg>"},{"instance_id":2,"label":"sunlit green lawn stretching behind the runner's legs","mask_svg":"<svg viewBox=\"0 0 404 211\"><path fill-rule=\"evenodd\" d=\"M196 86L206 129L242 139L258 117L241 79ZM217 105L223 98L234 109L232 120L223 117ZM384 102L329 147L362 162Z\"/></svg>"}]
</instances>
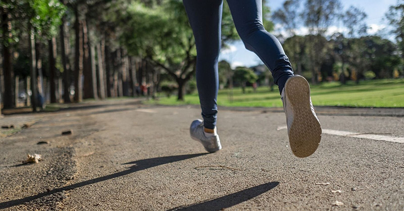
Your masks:
<instances>
[{"instance_id":1,"label":"sunlit green lawn stretching behind the runner's legs","mask_svg":"<svg viewBox=\"0 0 404 211\"><path fill-rule=\"evenodd\" d=\"M268 87L259 87L257 92L247 87L246 93L241 88L219 90L218 105L226 107L282 107L282 101L277 90L271 92ZM231 97L232 93L232 97ZM349 81L345 85L339 82L326 82L311 85L314 105L332 105L346 107L404 107L404 79L381 79L361 81L359 85ZM197 93L188 94L184 101L177 101L175 95L159 100L149 100L146 103L179 105L199 104Z\"/></svg>"}]
</instances>

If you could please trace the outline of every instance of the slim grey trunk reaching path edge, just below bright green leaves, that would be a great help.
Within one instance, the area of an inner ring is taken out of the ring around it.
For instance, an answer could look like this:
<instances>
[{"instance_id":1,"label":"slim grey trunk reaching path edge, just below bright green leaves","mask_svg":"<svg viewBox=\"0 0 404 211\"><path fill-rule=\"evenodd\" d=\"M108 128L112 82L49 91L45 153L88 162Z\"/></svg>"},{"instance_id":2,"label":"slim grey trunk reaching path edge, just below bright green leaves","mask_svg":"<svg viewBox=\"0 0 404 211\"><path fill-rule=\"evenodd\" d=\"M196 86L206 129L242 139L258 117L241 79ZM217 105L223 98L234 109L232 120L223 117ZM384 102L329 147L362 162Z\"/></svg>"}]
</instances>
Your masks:
<instances>
[{"instance_id":1,"label":"slim grey trunk reaching path edge, just below bright green leaves","mask_svg":"<svg viewBox=\"0 0 404 211\"><path fill-rule=\"evenodd\" d=\"M36 55L35 55L35 32L34 29L29 26L28 29L28 46L29 46L29 59L30 59L30 73L31 73L31 104L32 112L36 112L37 105L37 89L36 89Z\"/></svg>"}]
</instances>

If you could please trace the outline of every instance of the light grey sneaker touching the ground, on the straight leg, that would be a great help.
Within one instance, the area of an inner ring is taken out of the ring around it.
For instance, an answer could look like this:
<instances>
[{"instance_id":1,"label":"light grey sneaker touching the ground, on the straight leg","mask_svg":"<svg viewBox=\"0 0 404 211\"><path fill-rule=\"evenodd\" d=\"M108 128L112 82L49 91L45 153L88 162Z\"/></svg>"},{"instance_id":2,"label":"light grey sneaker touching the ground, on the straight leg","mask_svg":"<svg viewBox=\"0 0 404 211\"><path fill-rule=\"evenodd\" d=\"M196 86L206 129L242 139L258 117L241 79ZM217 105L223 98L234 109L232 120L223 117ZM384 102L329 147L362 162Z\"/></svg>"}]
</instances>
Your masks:
<instances>
[{"instance_id":1,"label":"light grey sneaker touching the ground, on the straight leg","mask_svg":"<svg viewBox=\"0 0 404 211\"><path fill-rule=\"evenodd\" d=\"M207 137L204 131L204 122L202 120L195 120L191 123L189 128L189 133L193 140L199 141L204 145L205 149L209 152L215 152L222 148L220 144L219 135L216 132L216 127L214 129L212 136Z\"/></svg>"}]
</instances>

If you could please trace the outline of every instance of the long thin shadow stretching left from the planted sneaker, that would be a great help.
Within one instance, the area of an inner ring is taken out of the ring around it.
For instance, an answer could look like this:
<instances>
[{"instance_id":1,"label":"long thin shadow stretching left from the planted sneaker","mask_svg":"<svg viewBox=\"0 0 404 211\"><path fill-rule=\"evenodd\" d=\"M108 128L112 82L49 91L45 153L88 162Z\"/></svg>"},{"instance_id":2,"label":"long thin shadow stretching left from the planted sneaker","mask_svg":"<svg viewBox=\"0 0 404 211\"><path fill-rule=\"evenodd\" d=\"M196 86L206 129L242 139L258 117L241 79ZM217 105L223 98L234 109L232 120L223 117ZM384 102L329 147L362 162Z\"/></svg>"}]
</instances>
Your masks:
<instances>
[{"instance_id":1,"label":"long thin shadow stretching left from the planted sneaker","mask_svg":"<svg viewBox=\"0 0 404 211\"><path fill-rule=\"evenodd\" d=\"M153 168L153 167L164 165L164 164L183 161L183 160L191 159L193 157L197 157L197 156L201 156L201 155L205 155L205 154L208 154L208 153L183 154L183 155L166 156L166 157L154 157L154 158L151 158L151 159L144 159L144 160L134 161L134 162L130 162L130 163L125 163L125 164L122 164L122 165L126 165L126 164L135 164L135 165L129 167L127 170L122 171L122 172L117 172L117 173L106 175L106 176L103 176L103 177L98 177L98 178L94 178L94 179L91 179L91 180L86 180L86 181L83 181L83 182L79 182L79 183L76 183L76 184L72 184L72 185L57 188L57 189L53 189L53 190L48 191L48 192L39 193L37 195L28 196L28 197L21 198L21 199L15 199L15 200L1 202L0 203L0 209L12 207L12 206L15 206L15 205L20 205L20 204L23 204L23 203L26 203L26 202L29 202L29 201L44 197L44 196L48 196L48 195L51 195L51 194L54 194L54 193L62 192L64 190L73 190L75 188L79 188L79 187L83 187L83 186L86 186L86 185L106 181L106 180L109 180L109 179L114 179L114 178L117 178L117 177L121 177L121 176L124 176L124 175L127 175L127 174L137 172L137 171Z\"/></svg>"}]
</instances>

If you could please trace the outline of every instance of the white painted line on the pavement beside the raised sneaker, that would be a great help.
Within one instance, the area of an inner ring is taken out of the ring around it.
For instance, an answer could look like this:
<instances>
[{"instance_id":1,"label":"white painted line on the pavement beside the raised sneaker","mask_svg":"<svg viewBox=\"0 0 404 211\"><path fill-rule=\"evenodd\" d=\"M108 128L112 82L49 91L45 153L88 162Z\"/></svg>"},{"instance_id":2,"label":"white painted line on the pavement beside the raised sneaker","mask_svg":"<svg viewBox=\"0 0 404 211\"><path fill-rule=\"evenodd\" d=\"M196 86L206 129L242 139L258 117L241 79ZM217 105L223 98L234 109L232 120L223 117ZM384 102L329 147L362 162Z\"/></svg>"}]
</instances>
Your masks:
<instances>
[{"instance_id":1,"label":"white painted line on the pavement beside the raised sneaker","mask_svg":"<svg viewBox=\"0 0 404 211\"><path fill-rule=\"evenodd\" d=\"M279 126L276 130L286 129L286 126ZM377 135L377 134L363 134L357 132L349 132L343 130L331 130L331 129L323 129L323 134L328 135L336 135L336 136L345 136L345 137L352 137L352 138L365 138L371 140L378 140L378 141L389 141L395 143L404 143L404 137L393 137L393 136L385 136L385 135Z\"/></svg>"}]
</instances>

